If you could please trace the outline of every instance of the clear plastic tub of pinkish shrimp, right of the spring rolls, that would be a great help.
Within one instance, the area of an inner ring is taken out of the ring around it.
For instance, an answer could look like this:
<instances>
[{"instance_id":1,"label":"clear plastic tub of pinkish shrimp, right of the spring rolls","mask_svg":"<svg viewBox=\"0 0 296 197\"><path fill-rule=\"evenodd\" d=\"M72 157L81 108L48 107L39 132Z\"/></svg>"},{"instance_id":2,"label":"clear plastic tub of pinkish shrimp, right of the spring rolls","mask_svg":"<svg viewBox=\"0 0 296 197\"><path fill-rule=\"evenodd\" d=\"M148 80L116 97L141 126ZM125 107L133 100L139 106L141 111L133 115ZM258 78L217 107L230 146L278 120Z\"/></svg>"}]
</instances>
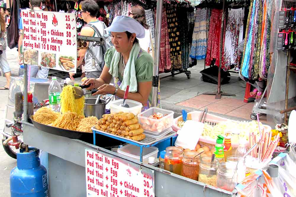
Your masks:
<instances>
[{"instance_id":1,"label":"clear plastic tub of pinkish shrimp, right of the spring rolls","mask_svg":"<svg viewBox=\"0 0 296 197\"><path fill-rule=\"evenodd\" d=\"M160 119L149 118L149 116L157 113L163 114L163 117ZM172 127L174 121L174 112L157 107L151 107L141 114L138 114L138 119L141 127L144 130L160 133Z\"/></svg>"}]
</instances>

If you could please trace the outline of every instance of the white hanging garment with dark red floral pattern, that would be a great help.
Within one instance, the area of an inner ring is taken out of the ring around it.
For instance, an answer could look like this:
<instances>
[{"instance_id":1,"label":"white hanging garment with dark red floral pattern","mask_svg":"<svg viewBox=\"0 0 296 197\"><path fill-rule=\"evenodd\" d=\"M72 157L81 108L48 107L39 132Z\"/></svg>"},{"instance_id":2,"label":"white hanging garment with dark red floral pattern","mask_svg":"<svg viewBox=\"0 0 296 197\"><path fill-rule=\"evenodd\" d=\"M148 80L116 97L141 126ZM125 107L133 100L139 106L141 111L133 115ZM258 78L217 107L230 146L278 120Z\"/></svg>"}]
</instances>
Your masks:
<instances>
[{"instance_id":1,"label":"white hanging garment with dark red floral pattern","mask_svg":"<svg viewBox=\"0 0 296 197\"><path fill-rule=\"evenodd\" d=\"M244 10L231 9L228 13L225 35L225 46L222 69L227 71L231 65L239 67L241 52L238 51L238 44L243 40L244 32Z\"/></svg>"}]
</instances>

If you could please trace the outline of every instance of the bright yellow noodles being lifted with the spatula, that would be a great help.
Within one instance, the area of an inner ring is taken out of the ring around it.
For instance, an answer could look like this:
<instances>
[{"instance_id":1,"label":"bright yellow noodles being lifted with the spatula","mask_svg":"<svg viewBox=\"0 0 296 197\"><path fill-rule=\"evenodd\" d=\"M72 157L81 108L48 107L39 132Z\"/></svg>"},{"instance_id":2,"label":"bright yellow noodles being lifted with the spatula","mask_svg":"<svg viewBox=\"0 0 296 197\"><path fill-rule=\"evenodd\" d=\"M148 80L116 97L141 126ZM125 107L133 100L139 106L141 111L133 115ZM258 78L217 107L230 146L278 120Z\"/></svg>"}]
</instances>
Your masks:
<instances>
[{"instance_id":1,"label":"bright yellow noodles being lifted with the spatula","mask_svg":"<svg viewBox=\"0 0 296 197\"><path fill-rule=\"evenodd\" d=\"M74 97L75 91L74 86L66 85L62 93L60 94L60 104L61 104L61 112L64 114L65 112L75 112L76 114L83 116L84 109L84 96L79 99L75 99Z\"/></svg>"}]
</instances>

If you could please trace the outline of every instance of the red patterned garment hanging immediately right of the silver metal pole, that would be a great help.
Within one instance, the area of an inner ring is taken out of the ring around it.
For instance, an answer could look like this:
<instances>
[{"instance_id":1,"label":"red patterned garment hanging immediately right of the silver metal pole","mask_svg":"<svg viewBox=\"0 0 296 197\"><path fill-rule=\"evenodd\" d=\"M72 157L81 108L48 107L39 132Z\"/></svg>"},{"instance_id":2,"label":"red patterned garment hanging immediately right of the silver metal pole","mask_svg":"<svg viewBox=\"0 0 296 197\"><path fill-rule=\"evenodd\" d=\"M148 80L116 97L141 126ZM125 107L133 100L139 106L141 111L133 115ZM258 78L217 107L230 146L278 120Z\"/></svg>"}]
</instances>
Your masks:
<instances>
[{"instance_id":1,"label":"red patterned garment hanging immediately right of the silver metal pole","mask_svg":"<svg viewBox=\"0 0 296 197\"><path fill-rule=\"evenodd\" d=\"M155 10L156 13L156 10ZM155 14L156 15L156 14ZM168 36L168 22L166 9L163 7L163 17L161 21L161 38L160 38L160 62L159 73L170 72L172 68L170 60L170 41Z\"/></svg>"}]
</instances>

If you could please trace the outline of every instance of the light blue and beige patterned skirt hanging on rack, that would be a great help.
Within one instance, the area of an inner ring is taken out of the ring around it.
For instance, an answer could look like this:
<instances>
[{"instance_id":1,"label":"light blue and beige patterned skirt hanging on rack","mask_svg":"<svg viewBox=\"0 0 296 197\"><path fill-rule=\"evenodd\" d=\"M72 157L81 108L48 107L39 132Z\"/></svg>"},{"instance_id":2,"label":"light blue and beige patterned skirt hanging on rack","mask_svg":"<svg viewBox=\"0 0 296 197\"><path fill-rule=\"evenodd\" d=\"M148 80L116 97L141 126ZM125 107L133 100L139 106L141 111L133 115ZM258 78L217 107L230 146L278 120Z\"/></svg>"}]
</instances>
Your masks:
<instances>
[{"instance_id":1,"label":"light blue and beige patterned skirt hanging on rack","mask_svg":"<svg viewBox=\"0 0 296 197\"><path fill-rule=\"evenodd\" d=\"M207 9L195 10L195 24L192 36L190 57L193 59L205 59L207 52Z\"/></svg>"}]
</instances>

